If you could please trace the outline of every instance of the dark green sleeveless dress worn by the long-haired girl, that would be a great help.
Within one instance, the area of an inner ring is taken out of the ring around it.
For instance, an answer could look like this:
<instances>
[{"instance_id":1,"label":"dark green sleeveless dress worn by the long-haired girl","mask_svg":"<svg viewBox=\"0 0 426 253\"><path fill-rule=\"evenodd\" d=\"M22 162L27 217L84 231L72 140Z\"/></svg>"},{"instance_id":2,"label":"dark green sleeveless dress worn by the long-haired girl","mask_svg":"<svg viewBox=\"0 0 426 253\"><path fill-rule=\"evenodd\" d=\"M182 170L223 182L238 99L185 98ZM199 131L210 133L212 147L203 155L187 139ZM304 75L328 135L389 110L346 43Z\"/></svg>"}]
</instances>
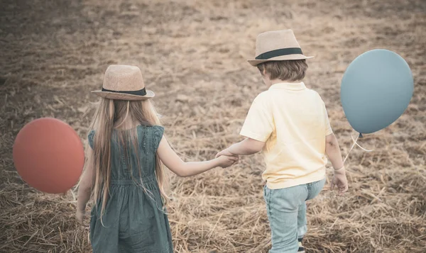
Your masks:
<instances>
[{"instance_id":1,"label":"dark green sleeveless dress worn by the long-haired girl","mask_svg":"<svg viewBox=\"0 0 426 253\"><path fill-rule=\"evenodd\" d=\"M155 177L155 154L164 129L158 125L139 125L136 130L138 154L129 140L126 142L127 148L121 147L116 135L118 130L113 131L109 198L102 222L102 198L97 200L98 208L94 206L91 213L90 242L93 252L173 252L170 225ZM93 149L93 130L88 139ZM142 181L146 191L136 181Z\"/></svg>"}]
</instances>

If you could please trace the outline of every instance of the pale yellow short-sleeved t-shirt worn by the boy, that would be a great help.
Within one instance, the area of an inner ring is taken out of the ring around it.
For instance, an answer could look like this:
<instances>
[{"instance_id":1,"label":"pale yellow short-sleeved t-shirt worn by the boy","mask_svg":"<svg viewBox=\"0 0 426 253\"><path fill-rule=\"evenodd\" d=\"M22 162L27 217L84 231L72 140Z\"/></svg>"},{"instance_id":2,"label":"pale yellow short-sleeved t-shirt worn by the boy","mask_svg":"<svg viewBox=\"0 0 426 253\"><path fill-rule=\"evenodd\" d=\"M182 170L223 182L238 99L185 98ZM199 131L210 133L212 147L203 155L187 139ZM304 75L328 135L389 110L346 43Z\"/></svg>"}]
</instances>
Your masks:
<instances>
[{"instance_id":1,"label":"pale yellow short-sleeved t-shirt worn by the boy","mask_svg":"<svg viewBox=\"0 0 426 253\"><path fill-rule=\"evenodd\" d=\"M325 137L332 133L324 101L300 82L259 94L240 134L266 142L262 178L269 189L282 189L324 179Z\"/></svg>"}]
</instances>

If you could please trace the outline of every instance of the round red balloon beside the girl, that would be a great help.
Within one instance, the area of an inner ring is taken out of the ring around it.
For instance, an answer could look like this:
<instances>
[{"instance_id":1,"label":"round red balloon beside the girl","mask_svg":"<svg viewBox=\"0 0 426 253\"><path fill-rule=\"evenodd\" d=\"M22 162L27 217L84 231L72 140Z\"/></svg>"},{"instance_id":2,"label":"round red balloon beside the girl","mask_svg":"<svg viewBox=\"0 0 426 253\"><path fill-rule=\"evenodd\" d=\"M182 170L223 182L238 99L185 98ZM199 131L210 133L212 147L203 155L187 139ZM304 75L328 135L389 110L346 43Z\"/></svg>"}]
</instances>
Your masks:
<instances>
[{"instance_id":1,"label":"round red balloon beside the girl","mask_svg":"<svg viewBox=\"0 0 426 253\"><path fill-rule=\"evenodd\" d=\"M13 162L18 174L33 188L65 193L80 179L84 148L70 125L56 118L39 118L16 136Z\"/></svg>"}]
</instances>

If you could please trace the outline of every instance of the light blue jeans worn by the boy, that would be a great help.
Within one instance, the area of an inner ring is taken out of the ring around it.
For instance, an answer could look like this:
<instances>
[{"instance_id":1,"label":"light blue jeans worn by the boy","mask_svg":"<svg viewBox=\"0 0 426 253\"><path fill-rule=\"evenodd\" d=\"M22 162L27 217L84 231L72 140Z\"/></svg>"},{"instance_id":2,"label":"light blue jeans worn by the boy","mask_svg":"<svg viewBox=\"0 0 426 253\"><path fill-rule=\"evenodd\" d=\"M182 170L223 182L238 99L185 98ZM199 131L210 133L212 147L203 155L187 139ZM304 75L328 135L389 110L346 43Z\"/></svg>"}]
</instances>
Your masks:
<instances>
[{"instance_id":1,"label":"light blue jeans worn by the boy","mask_svg":"<svg viewBox=\"0 0 426 253\"><path fill-rule=\"evenodd\" d=\"M324 183L325 179L322 179L283 189L263 188L271 226L272 249L269 253L297 252L297 238L302 238L307 232L305 201L315 198Z\"/></svg>"}]
</instances>

